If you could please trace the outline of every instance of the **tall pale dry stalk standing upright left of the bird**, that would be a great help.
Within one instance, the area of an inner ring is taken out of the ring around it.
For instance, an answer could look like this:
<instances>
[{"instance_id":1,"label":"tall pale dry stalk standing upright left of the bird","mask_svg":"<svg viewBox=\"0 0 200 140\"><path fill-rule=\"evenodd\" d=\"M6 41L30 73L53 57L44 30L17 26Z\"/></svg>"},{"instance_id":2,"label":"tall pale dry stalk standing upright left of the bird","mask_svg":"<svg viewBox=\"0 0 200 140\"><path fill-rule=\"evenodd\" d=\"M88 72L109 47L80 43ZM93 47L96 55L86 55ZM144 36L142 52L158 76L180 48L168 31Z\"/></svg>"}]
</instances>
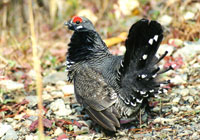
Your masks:
<instances>
[{"instance_id":1,"label":"tall pale dry stalk standing upright left of the bird","mask_svg":"<svg viewBox=\"0 0 200 140\"><path fill-rule=\"evenodd\" d=\"M29 22L30 22L30 30L31 30L31 41L32 41L32 50L33 50L33 62L34 62L34 70L36 72L36 88L37 88L37 97L38 97L38 108L39 108L39 139L44 140L44 128L43 128L43 120L42 120L42 77L41 77L41 68L40 68L40 60L37 56L37 42L35 36L34 29L34 19L33 19L33 9L32 9L32 0L28 1L29 6Z\"/></svg>"}]
</instances>

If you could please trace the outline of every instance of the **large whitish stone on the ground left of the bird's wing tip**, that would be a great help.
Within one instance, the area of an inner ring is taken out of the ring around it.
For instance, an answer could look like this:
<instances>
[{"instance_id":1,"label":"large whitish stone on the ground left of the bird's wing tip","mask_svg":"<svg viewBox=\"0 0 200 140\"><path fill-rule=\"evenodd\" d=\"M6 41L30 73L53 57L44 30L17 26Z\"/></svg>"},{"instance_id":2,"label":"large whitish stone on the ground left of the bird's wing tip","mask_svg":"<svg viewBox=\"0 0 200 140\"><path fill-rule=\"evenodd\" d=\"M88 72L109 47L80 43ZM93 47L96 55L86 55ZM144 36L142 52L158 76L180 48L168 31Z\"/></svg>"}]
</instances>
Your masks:
<instances>
[{"instance_id":1,"label":"large whitish stone on the ground left of the bird's wing tip","mask_svg":"<svg viewBox=\"0 0 200 140\"><path fill-rule=\"evenodd\" d=\"M50 109L57 116L67 116L72 113L72 110L69 105L65 106L65 103L62 99L57 99L56 101L50 104Z\"/></svg>"}]
</instances>

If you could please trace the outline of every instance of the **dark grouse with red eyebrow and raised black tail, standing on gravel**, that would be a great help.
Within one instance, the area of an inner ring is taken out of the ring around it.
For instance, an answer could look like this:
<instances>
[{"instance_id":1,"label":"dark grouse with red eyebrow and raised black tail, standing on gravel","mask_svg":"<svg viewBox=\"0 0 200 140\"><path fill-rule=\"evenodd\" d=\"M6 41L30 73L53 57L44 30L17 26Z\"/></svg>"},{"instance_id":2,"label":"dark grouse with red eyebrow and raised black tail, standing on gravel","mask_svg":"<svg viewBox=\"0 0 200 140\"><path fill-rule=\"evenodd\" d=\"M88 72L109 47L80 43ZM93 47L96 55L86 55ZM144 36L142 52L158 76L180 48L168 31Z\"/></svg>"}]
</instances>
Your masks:
<instances>
[{"instance_id":1,"label":"dark grouse with red eyebrow and raised black tail, standing on gravel","mask_svg":"<svg viewBox=\"0 0 200 140\"><path fill-rule=\"evenodd\" d=\"M104 129L116 132L121 120L131 122L140 109L148 109L150 98L167 92L170 80L159 77L173 67L158 66L168 51L156 56L163 39L157 21L134 23L120 56L111 54L88 18L74 16L64 25L73 31L65 63L68 81L77 102Z\"/></svg>"}]
</instances>

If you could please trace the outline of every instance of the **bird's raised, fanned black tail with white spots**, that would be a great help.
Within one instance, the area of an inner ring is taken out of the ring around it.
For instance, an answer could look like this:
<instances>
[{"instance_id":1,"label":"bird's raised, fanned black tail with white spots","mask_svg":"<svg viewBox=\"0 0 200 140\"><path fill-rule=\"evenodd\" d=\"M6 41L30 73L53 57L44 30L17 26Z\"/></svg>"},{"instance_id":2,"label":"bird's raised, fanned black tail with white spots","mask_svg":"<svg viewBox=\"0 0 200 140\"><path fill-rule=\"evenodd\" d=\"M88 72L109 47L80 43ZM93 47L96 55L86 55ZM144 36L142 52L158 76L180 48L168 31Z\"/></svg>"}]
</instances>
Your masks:
<instances>
[{"instance_id":1,"label":"bird's raised, fanned black tail with white spots","mask_svg":"<svg viewBox=\"0 0 200 140\"><path fill-rule=\"evenodd\" d=\"M156 21L142 19L131 27L125 42L124 59L118 71L119 84L124 94L121 97L127 105L135 106L142 103L145 98L166 91L161 85L167 84L168 81L158 82L157 77L172 67L160 71L156 64L168 52L166 51L160 58L155 56L162 39L163 29Z\"/></svg>"}]
</instances>

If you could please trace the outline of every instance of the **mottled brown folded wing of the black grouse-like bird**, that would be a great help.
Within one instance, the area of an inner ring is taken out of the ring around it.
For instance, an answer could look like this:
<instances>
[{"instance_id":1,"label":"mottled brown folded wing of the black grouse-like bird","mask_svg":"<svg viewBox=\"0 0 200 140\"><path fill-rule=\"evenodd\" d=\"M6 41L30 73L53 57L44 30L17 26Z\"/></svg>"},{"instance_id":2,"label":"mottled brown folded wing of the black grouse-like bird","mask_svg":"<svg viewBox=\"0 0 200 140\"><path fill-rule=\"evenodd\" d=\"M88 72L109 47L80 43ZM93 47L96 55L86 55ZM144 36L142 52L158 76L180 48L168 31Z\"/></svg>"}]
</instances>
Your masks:
<instances>
[{"instance_id":1,"label":"mottled brown folded wing of the black grouse-like bird","mask_svg":"<svg viewBox=\"0 0 200 140\"><path fill-rule=\"evenodd\" d=\"M119 114L113 106L117 93L105 82L100 72L87 66L81 67L74 77L74 86L77 101L94 121L111 131L120 127Z\"/></svg>"}]
</instances>

